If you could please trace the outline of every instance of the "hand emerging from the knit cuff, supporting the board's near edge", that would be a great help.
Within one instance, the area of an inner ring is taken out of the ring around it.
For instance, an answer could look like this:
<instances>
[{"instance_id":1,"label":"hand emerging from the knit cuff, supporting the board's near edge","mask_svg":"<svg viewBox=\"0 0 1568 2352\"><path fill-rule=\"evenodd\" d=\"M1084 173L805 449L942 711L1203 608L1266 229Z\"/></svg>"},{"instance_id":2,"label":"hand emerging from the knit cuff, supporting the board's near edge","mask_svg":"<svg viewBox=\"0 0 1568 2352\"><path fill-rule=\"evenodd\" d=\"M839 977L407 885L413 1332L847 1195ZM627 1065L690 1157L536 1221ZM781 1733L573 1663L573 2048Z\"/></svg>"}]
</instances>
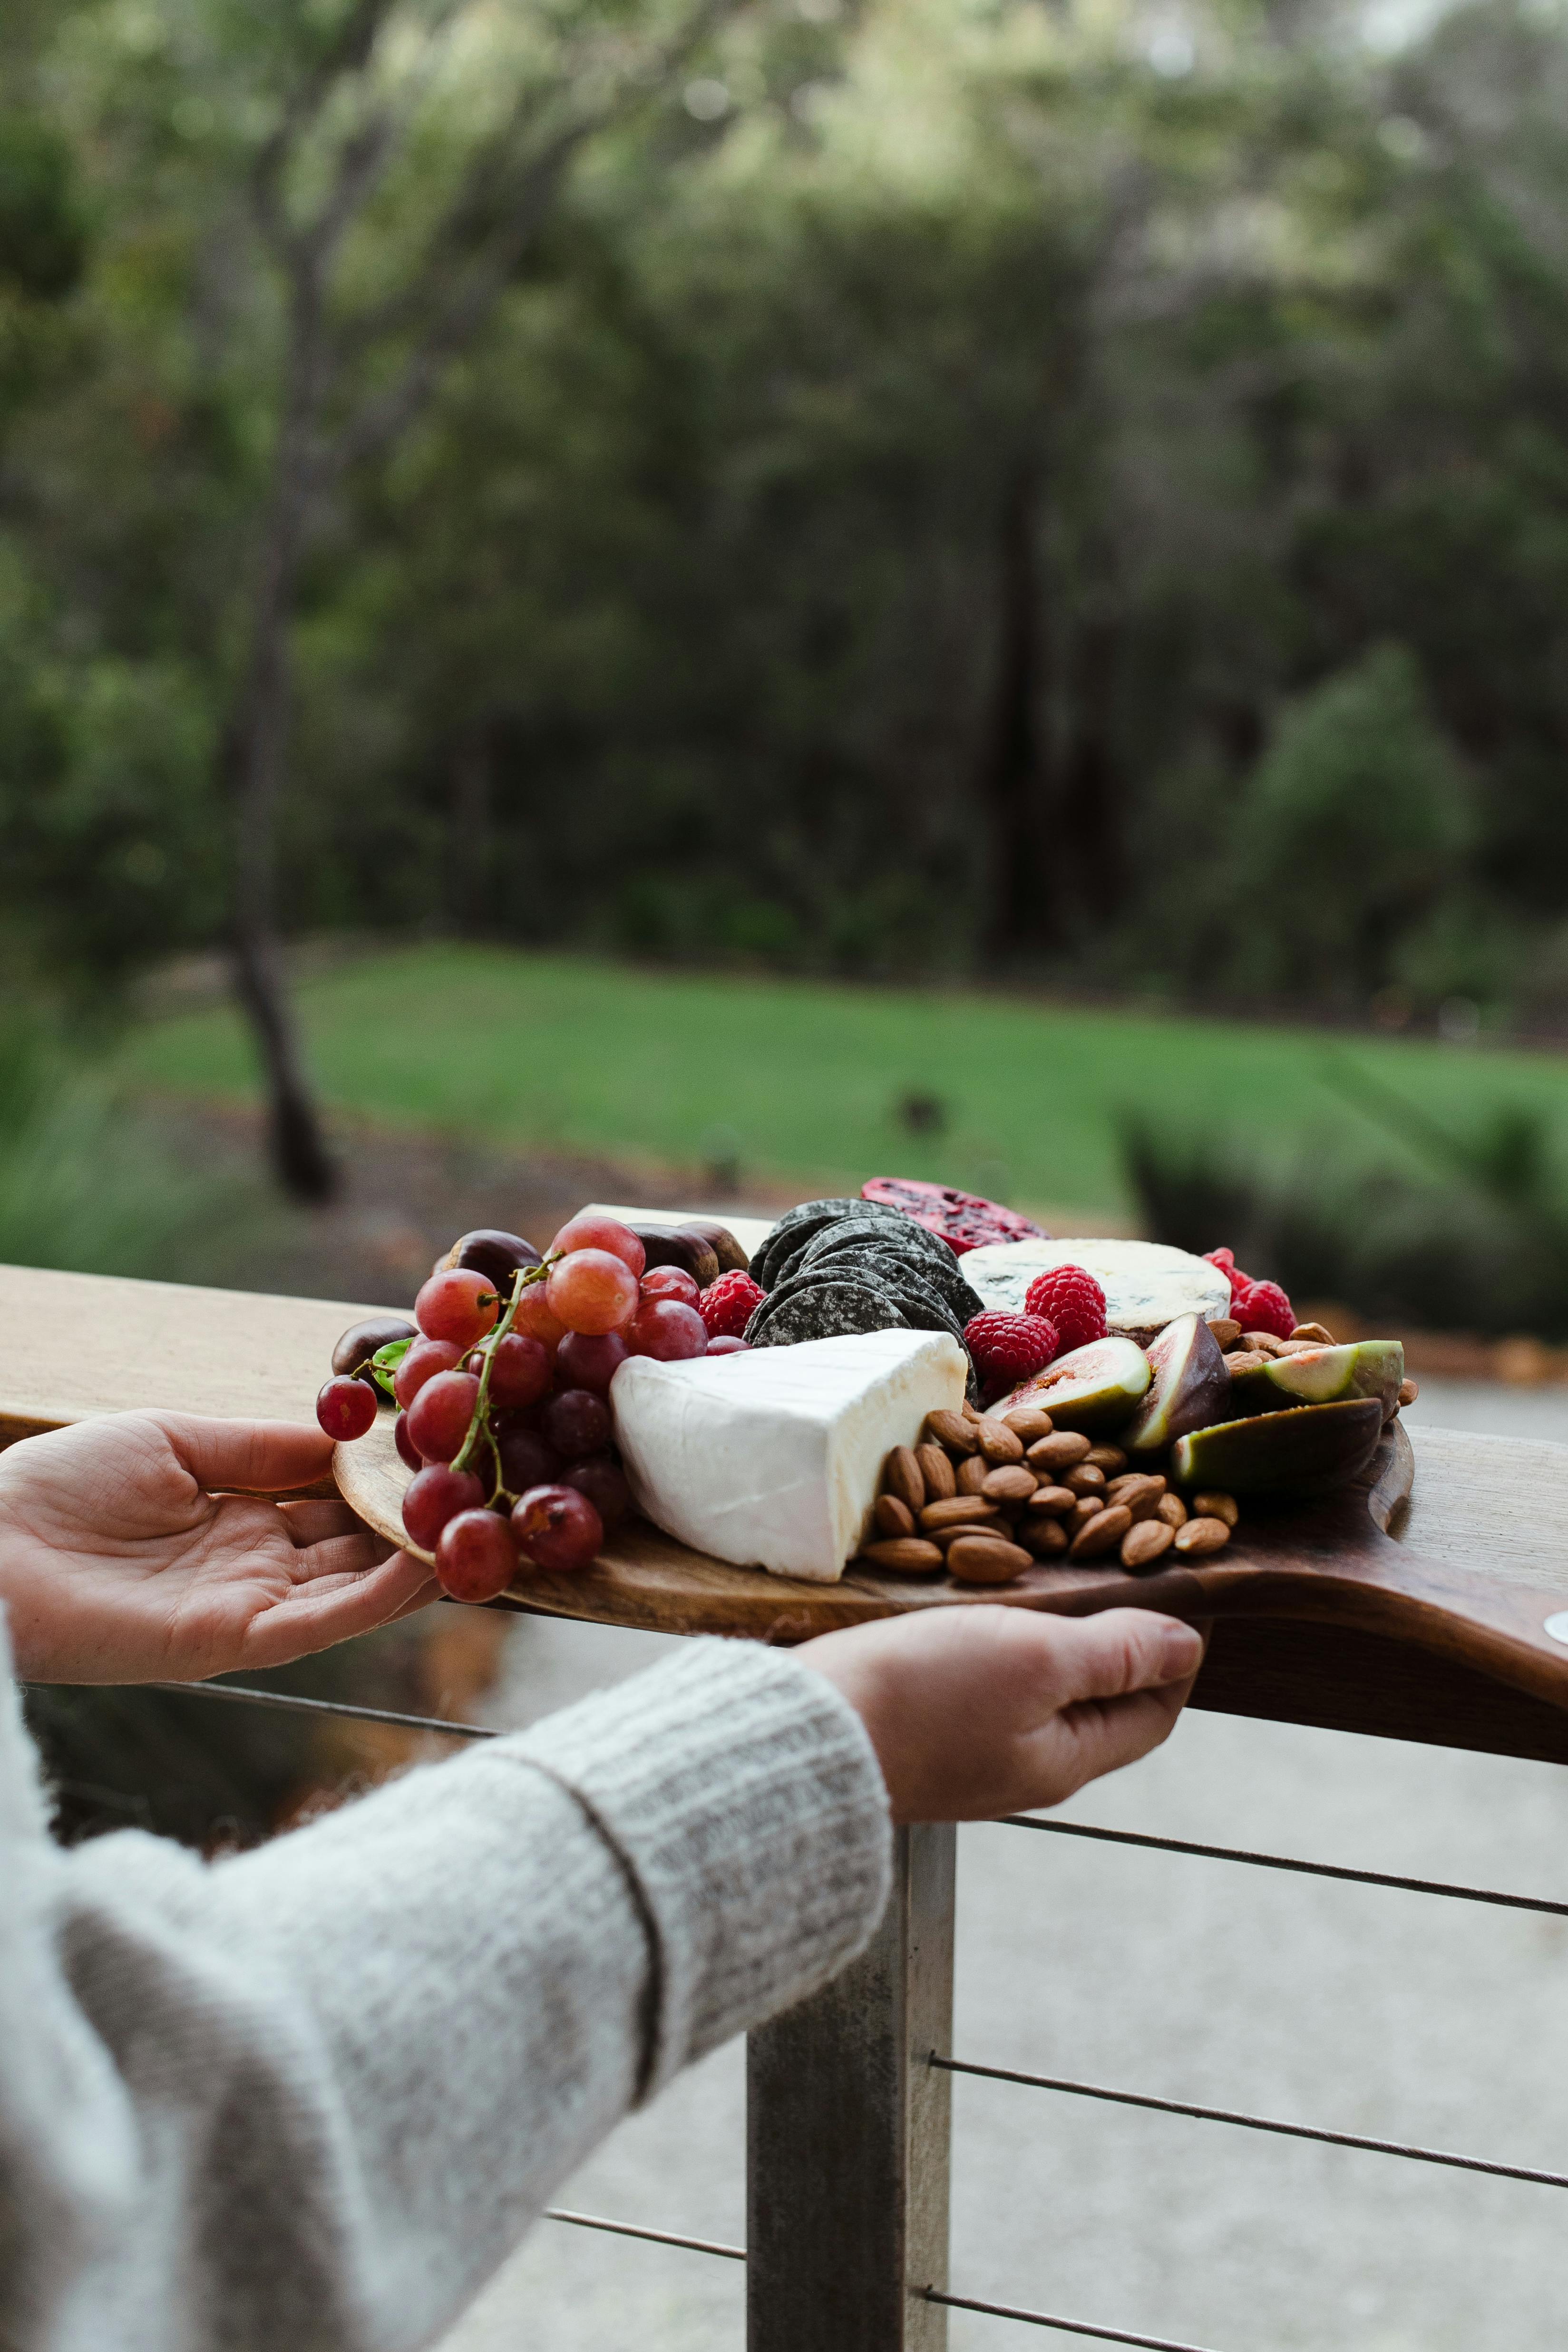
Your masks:
<instances>
[{"instance_id":1,"label":"hand emerging from the knit cuff, supporting the board's near edge","mask_svg":"<svg viewBox=\"0 0 1568 2352\"><path fill-rule=\"evenodd\" d=\"M870 1731L893 1820L1060 1804L1171 1733L1204 1637L1147 1609L1060 1618L964 1604L856 1625L797 1658Z\"/></svg>"}]
</instances>

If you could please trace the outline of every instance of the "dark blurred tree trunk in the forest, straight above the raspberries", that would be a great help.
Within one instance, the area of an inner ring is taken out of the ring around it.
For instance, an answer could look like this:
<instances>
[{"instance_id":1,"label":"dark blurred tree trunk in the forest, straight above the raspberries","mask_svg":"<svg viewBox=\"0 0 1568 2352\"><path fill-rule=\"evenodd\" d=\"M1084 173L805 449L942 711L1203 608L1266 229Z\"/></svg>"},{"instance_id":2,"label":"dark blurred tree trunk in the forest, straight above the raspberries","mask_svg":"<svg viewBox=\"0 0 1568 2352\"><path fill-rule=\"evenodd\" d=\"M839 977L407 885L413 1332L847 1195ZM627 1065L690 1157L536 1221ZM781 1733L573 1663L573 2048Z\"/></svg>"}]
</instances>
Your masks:
<instances>
[{"instance_id":1,"label":"dark blurred tree trunk in the forest, straight above the raspberries","mask_svg":"<svg viewBox=\"0 0 1568 2352\"><path fill-rule=\"evenodd\" d=\"M990 849L983 943L987 960L1004 964L1051 936L1041 807L1051 762L1039 720L1046 644L1034 499L1034 466L1023 463L1001 508L997 687L978 774Z\"/></svg>"}]
</instances>

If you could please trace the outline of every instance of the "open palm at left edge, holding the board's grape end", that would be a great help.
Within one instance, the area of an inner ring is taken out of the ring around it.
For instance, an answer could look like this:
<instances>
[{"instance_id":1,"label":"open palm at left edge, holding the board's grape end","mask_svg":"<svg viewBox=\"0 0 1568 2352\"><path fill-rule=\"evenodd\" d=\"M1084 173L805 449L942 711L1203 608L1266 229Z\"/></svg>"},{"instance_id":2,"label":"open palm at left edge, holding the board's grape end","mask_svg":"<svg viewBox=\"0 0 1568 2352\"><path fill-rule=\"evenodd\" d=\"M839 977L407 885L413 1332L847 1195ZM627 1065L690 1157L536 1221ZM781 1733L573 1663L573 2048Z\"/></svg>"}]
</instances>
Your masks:
<instances>
[{"instance_id":1,"label":"open palm at left edge, holding the board's grape end","mask_svg":"<svg viewBox=\"0 0 1568 2352\"><path fill-rule=\"evenodd\" d=\"M435 1599L289 1421L110 1414L0 1454L0 1599L31 1682L205 1682L287 1665ZM247 1494L214 1489L249 1489Z\"/></svg>"}]
</instances>

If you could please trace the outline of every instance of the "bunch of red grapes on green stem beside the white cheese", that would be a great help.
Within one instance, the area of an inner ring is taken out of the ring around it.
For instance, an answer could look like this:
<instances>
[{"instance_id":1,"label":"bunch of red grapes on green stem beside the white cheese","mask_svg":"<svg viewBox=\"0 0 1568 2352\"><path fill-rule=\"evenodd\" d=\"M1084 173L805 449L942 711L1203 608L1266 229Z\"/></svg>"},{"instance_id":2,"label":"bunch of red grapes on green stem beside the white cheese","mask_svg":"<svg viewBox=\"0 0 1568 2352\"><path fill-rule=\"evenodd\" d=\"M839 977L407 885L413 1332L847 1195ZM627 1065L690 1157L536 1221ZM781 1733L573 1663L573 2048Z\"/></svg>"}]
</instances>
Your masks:
<instances>
[{"instance_id":1,"label":"bunch of red grapes on green stem beside the white cheese","mask_svg":"<svg viewBox=\"0 0 1568 2352\"><path fill-rule=\"evenodd\" d=\"M637 1235L592 1214L569 1218L510 1287L473 1265L437 1265L414 1301L416 1331L402 1324L407 1338L339 1371L315 1399L329 1437L364 1437L371 1383L390 1381L397 1451L414 1470L402 1524L435 1552L454 1599L487 1602L527 1569L597 1557L632 1501L609 1411L628 1355L677 1362L741 1345L710 1341L689 1272L644 1268Z\"/></svg>"}]
</instances>

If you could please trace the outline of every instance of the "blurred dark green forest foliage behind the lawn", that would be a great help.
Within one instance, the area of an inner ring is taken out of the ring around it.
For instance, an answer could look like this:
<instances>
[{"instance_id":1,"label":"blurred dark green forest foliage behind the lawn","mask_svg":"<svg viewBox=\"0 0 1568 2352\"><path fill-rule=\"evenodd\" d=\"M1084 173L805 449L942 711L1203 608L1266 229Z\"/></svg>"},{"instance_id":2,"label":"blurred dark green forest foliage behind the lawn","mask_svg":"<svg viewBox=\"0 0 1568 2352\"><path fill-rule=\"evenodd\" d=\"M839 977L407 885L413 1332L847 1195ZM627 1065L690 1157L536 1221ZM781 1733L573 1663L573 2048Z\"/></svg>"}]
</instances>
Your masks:
<instances>
[{"instance_id":1,"label":"blurred dark green forest foliage behind the lawn","mask_svg":"<svg viewBox=\"0 0 1568 2352\"><path fill-rule=\"evenodd\" d=\"M651 21L7 9L0 889L75 988L226 924L280 120L423 75L331 426L491 85ZM635 71L329 473L284 929L1568 1018L1561 12L759 0Z\"/></svg>"}]
</instances>

